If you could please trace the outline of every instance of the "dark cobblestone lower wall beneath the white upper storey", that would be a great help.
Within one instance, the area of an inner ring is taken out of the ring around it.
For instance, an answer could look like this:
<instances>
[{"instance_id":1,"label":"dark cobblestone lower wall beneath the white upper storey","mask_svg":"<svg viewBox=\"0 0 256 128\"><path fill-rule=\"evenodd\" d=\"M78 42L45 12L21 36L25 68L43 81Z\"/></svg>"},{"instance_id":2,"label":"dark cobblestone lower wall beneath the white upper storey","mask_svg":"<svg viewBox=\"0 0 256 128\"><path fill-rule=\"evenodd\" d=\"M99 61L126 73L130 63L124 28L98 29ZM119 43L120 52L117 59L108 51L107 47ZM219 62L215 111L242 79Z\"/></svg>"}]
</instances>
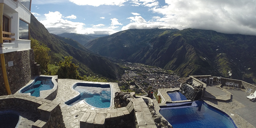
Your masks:
<instances>
[{"instance_id":1,"label":"dark cobblestone lower wall beneath the white upper storey","mask_svg":"<svg viewBox=\"0 0 256 128\"><path fill-rule=\"evenodd\" d=\"M10 61L13 61L13 66L8 66ZM33 49L5 53L6 73L12 94L25 86L35 75L35 70L38 69L36 69L34 63ZM3 95L7 95L7 92L2 68L0 68L0 96Z\"/></svg>"}]
</instances>

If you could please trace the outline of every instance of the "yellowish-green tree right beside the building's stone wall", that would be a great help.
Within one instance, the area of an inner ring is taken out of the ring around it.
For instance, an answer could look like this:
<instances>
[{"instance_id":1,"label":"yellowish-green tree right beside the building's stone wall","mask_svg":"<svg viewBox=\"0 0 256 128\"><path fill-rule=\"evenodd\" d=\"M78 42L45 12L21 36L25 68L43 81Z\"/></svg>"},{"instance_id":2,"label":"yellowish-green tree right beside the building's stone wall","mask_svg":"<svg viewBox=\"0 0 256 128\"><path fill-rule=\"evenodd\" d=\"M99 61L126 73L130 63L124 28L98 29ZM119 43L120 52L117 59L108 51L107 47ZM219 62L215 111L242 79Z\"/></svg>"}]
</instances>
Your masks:
<instances>
[{"instance_id":1,"label":"yellowish-green tree right beside the building's stone wall","mask_svg":"<svg viewBox=\"0 0 256 128\"><path fill-rule=\"evenodd\" d=\"M36 39L30 38L31 49L34 50L35 62L40 64L41 73L45 74L48 72L48 64L50 63L51 56L49 52L51 51L45 44L40 44Z\"/></svg>"}]
</instances>

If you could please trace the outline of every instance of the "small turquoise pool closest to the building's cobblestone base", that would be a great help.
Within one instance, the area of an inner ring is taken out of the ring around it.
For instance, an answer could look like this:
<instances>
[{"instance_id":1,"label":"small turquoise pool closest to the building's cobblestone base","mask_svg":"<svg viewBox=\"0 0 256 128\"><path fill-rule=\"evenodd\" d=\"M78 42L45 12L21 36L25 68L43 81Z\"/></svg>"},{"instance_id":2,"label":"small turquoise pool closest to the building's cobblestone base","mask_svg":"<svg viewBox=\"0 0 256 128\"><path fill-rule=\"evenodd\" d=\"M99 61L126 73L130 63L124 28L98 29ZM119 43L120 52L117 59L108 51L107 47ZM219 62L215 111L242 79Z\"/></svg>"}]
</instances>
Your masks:
<instances>
[{"instance_id":1,"label":"small turquoise pool closest to the building's cobblestone base","mask_svg":"<svg viewBox=\"0 0 256 128\"><path fill-rule=\"evenodd\" d=\"M28 86L22 88L20 93L30 93L31 96L40 97L40 91L50 90L54 87L52 77L40 76Z\"/></svg>"}]
</instances>

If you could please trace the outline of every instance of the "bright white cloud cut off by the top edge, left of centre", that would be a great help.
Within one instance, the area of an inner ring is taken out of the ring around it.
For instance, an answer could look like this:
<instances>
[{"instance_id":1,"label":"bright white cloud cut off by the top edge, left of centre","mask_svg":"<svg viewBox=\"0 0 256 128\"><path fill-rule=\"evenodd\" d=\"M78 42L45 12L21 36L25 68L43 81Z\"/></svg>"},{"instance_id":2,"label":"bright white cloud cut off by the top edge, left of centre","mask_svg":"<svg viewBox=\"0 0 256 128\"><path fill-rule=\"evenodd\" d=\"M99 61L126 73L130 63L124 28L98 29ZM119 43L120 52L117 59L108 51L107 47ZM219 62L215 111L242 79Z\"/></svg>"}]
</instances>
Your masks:
<instances>
[{"instance_id":1,"label":"bright white cloud cut off by the top edge, left of centre","mask_svg":"<svg viewBox=\"0 0 256 128\"><path fill-rule=\"evenodd\" d=\"M123 3L129 0L69 0L76 5L90 5L90 6L100 6L100 5L115 5L123 6Z\"/></svg>"}]
</instances>

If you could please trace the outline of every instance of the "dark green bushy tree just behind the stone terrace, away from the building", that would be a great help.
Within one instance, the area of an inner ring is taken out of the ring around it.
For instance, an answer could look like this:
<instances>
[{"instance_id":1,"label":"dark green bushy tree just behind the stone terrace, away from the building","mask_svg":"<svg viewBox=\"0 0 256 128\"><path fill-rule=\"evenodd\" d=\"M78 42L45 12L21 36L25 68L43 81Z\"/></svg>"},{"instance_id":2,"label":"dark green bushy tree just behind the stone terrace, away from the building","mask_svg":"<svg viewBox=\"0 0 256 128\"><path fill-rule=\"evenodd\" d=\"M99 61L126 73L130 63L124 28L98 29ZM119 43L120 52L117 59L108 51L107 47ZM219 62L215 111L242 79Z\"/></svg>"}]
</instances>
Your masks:
<instances>
[{"instance_id":1,"label":"dark green bushy tree just behind the stone terrace, away from the building","mask_svg":"<svg viewBox=\"0 0 256 128\"><path fill-rule=\"evenodd\" d=\"M57 72L58 78L61 79L77 79L79 77L79 73L77 71L78 66L72 63L73 57L66 56L65 60L59 63L59 70Z\"/></svg>"}]
</instances>

